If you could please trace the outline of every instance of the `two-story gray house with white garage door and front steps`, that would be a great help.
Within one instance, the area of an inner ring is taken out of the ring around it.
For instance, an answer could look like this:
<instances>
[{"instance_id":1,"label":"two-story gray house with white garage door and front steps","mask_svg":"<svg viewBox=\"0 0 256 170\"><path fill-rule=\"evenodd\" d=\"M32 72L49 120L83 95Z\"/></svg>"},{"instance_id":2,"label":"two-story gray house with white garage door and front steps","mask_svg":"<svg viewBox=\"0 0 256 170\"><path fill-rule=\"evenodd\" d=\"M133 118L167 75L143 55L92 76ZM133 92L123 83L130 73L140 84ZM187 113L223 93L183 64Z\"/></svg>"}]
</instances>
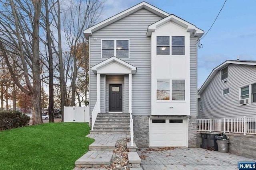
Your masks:
<instances>
[{"instance_id":1,"label":"two-story gray house with white garage door and front steps","mask_svg":"<svg viewBox=\"0 0 256 170\"><path fill-rule=\"evenodd\" d=\"M91 133L129 133L132 113L139 147L196 147L196 43L204 31L141 2L84 34Z\"/></svg>"}]
</instances>

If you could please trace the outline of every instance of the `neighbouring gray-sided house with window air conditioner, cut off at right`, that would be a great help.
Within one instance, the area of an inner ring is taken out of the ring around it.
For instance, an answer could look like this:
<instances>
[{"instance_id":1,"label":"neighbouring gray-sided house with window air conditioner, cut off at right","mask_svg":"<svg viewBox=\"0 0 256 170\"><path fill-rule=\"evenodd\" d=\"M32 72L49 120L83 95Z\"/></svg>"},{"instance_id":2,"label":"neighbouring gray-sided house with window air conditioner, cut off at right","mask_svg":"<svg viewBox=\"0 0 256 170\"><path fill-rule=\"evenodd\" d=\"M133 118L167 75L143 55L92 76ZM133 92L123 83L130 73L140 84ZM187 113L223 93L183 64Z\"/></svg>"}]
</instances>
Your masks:
<instances>
[{"instance_id":1,"label":"neighbouring gray-sided house with window air conditioner, cut off at right","mask_svg":"<svg viewBox=\"0 0 256 170\"><path fill-rule=\"evenodd\" d=\"M256 61L228 60L198 91L200 119L256 115Z\"/></svg>"}]
</instances>

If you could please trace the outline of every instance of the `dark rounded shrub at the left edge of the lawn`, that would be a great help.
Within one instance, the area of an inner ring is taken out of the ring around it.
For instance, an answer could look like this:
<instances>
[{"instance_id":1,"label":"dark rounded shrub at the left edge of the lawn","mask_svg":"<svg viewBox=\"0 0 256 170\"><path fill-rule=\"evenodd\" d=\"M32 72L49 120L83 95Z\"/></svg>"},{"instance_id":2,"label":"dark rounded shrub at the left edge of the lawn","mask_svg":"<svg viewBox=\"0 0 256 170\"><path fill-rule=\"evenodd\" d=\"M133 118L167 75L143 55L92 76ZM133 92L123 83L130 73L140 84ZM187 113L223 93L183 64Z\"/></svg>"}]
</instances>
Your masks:
<instances>
[{"instance_id":1,"label":"dark rounded shrub at the left edge of the lawn","mask_svg":"<svg viewBox=\"0 0 256 170\"><path fill-rule=\"evenodd\" d=\"M0 111L0 130L28 125L30 117L19 111Z\"/></svg>"}]
</instances>

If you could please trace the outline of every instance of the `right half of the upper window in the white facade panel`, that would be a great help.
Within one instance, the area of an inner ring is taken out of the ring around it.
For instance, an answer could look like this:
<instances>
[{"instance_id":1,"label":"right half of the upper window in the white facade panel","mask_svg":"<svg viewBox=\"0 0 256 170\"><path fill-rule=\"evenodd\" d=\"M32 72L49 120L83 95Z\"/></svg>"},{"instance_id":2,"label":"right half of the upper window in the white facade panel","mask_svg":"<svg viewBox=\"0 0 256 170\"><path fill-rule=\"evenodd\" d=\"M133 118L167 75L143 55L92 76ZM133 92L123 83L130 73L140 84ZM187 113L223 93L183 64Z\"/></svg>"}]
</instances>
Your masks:
<instances>
[{"instance_id":1,"label":"right half of the upper window in the white facade panel","mask_svg":"<svg viewBox=\"0 0 256 170\"><path fill-rule=\"evenodd\" d=\"M172 37L172 55L185 55L185 37Z\"/></svg>"}]
</instances>

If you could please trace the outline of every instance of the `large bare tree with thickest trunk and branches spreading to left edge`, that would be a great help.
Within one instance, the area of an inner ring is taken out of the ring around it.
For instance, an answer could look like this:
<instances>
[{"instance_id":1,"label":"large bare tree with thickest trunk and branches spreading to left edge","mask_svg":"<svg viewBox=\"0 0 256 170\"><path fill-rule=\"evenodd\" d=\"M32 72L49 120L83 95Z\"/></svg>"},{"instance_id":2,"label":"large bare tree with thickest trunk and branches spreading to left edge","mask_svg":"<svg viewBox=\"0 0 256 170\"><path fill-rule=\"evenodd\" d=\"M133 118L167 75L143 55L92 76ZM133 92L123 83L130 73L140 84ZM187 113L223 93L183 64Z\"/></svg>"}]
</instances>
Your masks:
<instances>
[{"instance_id":1,"label":"large bare tree with thickest trunk and branches spreading to left edge","mask_svg":"<svg viewBox=\"0 0 256 170\"><path fill-rule=\"evenodd\" d=\"M42 106L39 27L42 2L41 0L0 0L0 4L0 50L14 83L33 99L33 125L40 124ZM14 73L10 63L12 60L9 58L10 53L19 56L27 88L22 86Z\"/></svg>"}]
</instances>

